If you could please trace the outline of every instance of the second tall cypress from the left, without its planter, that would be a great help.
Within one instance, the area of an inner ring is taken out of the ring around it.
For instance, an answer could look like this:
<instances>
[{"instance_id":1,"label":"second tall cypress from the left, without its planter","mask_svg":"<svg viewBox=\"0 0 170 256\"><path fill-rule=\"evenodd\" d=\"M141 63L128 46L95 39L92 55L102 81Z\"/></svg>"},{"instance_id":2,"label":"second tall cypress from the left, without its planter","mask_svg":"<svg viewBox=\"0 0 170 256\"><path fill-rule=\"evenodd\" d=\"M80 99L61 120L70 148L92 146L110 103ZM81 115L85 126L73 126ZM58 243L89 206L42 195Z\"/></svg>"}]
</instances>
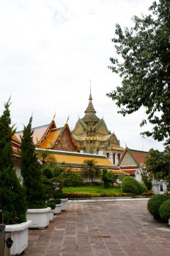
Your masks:
<instances>
[{"instance_id":1,"label":"second tall cypress from the left, without its planter","mask_svg":"<svg viewBox=\"0 0 170 256\"><path fill-rule=\"evenodd\" d=\"M43 208L45 203L45 189L42 184L40 164L35 154L36 145L32 135L32 117L27 126L24 126L23 136L21 137L21 172L23 185L26 189L26 199L28 208Z\"/></svg>"}]
</instances>

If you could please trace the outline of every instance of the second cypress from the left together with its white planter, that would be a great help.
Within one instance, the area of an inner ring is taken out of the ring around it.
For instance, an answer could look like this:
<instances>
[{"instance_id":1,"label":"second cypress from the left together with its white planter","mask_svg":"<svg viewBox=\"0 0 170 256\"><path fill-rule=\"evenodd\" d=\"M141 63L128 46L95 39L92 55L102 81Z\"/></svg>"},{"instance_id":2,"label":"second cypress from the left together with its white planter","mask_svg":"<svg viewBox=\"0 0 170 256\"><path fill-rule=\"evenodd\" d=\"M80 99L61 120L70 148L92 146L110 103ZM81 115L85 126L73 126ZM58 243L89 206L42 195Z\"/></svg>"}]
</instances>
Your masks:
<instances>
[{"instance_id":1,"label":"second cypress from the left together with its white planter","mask_svg":"<svg viewBox=\"0 0 170 256\"><path fill-rule=\"evenodd\" d=\"M24 126L21 137L21 174L28 203L27 218L32 220L31 228L45 228L49 224L50 207L46 205L46 193L42 184L40 162L35 153L36 145L32 135L32 117Z\"/></svg>"}]
</instances>

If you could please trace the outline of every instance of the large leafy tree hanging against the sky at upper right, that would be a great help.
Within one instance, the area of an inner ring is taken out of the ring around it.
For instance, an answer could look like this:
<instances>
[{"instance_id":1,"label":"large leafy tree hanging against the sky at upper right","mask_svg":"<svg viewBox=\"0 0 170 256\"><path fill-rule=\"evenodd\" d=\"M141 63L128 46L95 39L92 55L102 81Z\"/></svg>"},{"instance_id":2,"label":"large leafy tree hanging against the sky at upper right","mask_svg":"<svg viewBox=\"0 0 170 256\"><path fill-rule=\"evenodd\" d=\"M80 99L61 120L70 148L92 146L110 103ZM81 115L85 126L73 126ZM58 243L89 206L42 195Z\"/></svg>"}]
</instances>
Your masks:
<instances>
[{"instance_id":1,"label":"large leafy tree hanging against the sky at upper right","mask_svg":"<svg viewBox=\"0 0 170 256\"><path fill-rule=\"evenodd\" d=\"M141 106L147 119L140 126L151 123L152 131L144 131L158 141L170 144L170 2L153 2L150 15L134 16L134 27L124 32L116 24L112 39L120 59L110 58L110 69L122 77L122 86L107 94L123 116L134 113Z\"/></svg>"}]
</instances>

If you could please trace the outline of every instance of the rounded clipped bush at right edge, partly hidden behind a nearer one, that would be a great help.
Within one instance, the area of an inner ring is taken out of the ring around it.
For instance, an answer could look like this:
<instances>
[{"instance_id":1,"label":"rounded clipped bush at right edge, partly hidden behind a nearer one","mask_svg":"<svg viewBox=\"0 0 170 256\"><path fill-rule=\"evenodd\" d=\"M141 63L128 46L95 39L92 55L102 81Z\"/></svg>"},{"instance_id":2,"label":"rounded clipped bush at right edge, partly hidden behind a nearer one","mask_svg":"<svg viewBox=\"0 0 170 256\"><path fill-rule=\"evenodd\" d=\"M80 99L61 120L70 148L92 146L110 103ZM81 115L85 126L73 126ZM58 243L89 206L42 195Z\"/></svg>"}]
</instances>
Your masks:
<instances>
[{"instance_id":1,"label":"rounded clipped bush at right edge, partly hidden behind a nearer one","mask_svg":"<svg viewBox=\"0 0 170 256\"><path fill-rule=\"evenodd\" d=\"M161 205L167 200L169 200L169 197L167 197L166 195L153 195L153 197L151 197L148 200L148 204L147 204L148 212L150 212L150 214L153 215L153 218L155 220L161 220L159 207L161 207Z\"/></svg>"}]
</instances>

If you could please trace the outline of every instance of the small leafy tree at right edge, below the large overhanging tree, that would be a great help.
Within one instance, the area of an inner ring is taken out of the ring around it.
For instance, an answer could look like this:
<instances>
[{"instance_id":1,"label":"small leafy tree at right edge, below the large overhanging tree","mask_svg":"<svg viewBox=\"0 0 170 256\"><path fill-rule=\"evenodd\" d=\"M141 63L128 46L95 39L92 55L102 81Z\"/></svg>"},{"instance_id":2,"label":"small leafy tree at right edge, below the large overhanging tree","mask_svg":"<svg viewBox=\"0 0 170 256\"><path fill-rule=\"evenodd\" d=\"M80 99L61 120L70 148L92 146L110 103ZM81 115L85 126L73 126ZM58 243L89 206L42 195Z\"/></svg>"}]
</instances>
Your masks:
<instances>
[{"instance_id":1,"label":"small leafy tree at right edge, below the large overhanging tree","mask_svg":"<svg viewBox=\"0 0 170 256\"><path fill-rule=\"evenodd\" d=\"M163 179L170 182L170 148L165 148L164 152L159 150L149 150L149 156L146 157L146 168L148 172L156 174L156 179Z\"/></svg>"}]
</instances>

